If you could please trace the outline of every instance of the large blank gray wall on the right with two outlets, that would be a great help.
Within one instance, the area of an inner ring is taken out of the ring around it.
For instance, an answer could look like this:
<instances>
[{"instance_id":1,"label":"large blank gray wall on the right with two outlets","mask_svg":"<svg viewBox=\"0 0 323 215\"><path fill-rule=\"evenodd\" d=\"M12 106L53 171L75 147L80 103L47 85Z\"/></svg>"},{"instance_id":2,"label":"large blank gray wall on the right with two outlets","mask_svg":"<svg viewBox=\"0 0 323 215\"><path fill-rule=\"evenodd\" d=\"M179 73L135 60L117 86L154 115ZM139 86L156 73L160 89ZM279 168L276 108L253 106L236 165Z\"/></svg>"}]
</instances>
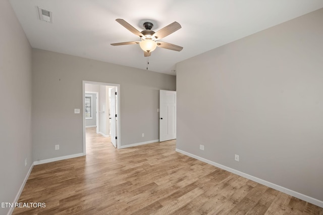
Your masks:
<instances>
[{"instance_id":1,"label":"large blank gray wall on the right with two outlets","mask_svg":"<svg viewBox=\"0 0 323 215\"><path fill-rule=\"evenodd\" d=\"M322 201L322 20L320 9L179 63L177 148Z\"/></svg>"}]
</instances>

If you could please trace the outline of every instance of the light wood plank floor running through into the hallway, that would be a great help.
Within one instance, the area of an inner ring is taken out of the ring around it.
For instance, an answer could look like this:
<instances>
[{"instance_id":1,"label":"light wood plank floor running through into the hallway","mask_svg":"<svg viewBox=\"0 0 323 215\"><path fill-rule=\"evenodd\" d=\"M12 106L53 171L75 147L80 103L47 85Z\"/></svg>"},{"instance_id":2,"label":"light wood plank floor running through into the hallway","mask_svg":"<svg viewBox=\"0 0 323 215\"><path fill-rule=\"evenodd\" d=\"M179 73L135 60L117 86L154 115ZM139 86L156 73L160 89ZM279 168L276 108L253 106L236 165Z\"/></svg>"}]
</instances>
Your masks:
<instances>
[{"instance_id":1,"label":"light wood plank floor running through into the hallway","mask_svg":"<svg viewBox=\"0 0 323 215\"><path fill-rule=\"evenodd\" d=\"M115 149L87 129L87 155L34 166L13 214L323 214L323 208L175 152Z\"/></svg>"}]
</instances>

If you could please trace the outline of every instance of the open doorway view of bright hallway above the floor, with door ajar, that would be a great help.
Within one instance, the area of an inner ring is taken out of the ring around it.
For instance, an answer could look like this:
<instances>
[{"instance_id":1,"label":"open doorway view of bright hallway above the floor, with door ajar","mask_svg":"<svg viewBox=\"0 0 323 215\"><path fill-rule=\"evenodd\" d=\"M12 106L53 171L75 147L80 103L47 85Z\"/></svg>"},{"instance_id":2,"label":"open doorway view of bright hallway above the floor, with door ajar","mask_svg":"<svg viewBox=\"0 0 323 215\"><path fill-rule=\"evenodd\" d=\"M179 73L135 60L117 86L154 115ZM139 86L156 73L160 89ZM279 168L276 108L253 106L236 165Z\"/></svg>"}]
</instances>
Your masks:
<instances>
[{"instance_id":1,"label":"open doorway view of bright hallway above the floor, with door ajar","mask_svg":"<svg viewBox=\"0 0 323 215\"><path fill-rule=\"evenodd\" d=\"M82 85L83 154L86 154L86 132L90 130L91 133L95 131L96 134L106 137L106 141L109 139L107 144L120 148L120 85L92 81L83 81ZM96 99L93 96L96 96ZM94 100L96 105L93 104ZM95 126L94 116L96 116Z\"/></svg>"}]
</instances>

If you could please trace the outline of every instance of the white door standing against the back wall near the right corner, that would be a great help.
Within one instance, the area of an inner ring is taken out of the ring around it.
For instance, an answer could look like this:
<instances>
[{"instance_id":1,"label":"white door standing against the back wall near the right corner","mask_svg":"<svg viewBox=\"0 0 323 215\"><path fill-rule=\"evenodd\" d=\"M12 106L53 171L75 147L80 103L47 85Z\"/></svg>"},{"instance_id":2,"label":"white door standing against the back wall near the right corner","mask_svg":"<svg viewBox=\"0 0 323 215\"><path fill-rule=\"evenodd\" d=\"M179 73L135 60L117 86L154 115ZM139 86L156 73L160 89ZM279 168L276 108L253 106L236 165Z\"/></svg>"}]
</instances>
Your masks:
<instances>
[{"instance_id":1,"label":"white door standing against the back wall near the right corner","mask_svg":"<svg viewBox=\"0 0 323 215\"><path fill-rule=\"evenodd\" d=\"M176 91L159 90L159 142L176 139Z\"/></svg>"}]
</instances>

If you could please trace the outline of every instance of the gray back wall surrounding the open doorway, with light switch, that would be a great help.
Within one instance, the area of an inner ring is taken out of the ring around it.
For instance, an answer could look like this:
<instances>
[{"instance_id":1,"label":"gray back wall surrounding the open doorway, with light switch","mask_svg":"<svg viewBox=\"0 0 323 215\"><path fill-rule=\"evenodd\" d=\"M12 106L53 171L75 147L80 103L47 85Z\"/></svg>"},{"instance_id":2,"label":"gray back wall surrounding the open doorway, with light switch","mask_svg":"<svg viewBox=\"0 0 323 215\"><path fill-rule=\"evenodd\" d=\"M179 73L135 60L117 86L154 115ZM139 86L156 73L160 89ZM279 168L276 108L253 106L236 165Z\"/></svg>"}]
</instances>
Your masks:
<instances>
[{"instance_id":1,"label":"gray back wall surrounding the open doorway, with light switch","mask_svg":"<svg viewBox=\"0 0 323 215\"><path fill-rule=\"evenodd\" d=\"M159 89L175 90L175 76L40 49L32 53L34 160L83 152L82 114L74 114L82 110L83 80L120 84L122 145L158 139Z\"/></svg>"}]
</instances>

